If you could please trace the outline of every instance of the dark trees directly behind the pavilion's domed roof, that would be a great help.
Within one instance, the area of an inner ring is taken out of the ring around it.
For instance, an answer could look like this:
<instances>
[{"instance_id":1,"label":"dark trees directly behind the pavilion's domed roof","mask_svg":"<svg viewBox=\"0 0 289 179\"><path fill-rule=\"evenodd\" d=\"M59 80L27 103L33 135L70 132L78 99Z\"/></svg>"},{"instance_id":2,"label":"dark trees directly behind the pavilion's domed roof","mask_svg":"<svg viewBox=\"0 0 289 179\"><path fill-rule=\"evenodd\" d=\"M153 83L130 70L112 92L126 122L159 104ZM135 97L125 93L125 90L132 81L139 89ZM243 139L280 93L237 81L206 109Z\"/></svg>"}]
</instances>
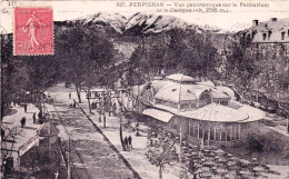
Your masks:
<instances>
[{"instance_id":1,"label":"dark trees directly behind the pavilion's domed roof","mask_svg":"<svg viewBox=\"0 0 289 179\"><path fill-rule=\"evenodd\" d=\"M166 74L181 72L209 79L217 73L217 49L212 47L209 33L172 29L136 37L140 42L129 61L130 83L141 83L161 70Z\"/></svg>"}]
</instances>

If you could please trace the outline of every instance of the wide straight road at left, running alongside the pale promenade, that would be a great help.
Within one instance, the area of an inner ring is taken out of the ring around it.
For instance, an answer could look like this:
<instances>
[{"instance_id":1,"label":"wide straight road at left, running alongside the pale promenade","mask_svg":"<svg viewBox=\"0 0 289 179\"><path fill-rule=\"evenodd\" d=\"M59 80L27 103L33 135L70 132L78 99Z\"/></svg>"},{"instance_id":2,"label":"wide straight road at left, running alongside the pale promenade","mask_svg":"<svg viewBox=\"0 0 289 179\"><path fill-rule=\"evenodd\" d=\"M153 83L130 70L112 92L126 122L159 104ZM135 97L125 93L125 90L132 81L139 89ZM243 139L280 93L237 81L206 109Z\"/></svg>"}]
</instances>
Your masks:
<instances>
[{"instance_id":1,"label":"wide straight road at left, running alongside the pale promenade","mask_svg":"<svg viewBox=\"0 0 289 179\"><path fill-rule=\"evenodd\" d=\"M50 95L52 97L57 96L57 100L54 109L50 110L52 112L58 112L60 119L62 120L59 120L58 123L62 140L68 146L67 131L71 139L70 143L72 149L71 161L73 163L73 178L138 178L133 175L131 169L127 167L123 159L113 150L113 146L111 146L111 143L108 142L98 129L87 119L87 116L80 110L80 108L69 108L72 100L68 99L68 93L58 93L60 90L56 90L56 92L51 91Z\"/></svg>"}]
</instances>

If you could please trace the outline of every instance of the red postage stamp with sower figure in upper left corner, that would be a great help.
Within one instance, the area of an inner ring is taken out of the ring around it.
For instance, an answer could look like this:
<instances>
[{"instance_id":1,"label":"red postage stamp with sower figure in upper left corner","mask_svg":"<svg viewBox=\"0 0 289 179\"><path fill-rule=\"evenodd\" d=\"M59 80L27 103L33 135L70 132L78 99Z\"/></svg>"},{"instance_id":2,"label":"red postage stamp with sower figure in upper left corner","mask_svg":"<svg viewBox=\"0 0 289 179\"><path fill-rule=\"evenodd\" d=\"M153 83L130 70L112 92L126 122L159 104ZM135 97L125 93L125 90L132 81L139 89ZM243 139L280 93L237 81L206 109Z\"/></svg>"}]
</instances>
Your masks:
<instances>
[{"instance_id":1,"label":"red postage stamp with sower figure in upper left corner","mask_svg":"<svg viewBox=\"0 0 289 179\"><path fill-rule=\"evenodd\" d=\"M53 54L51 8L14 8L14 56Z\"/></svg>"}]
</instances>

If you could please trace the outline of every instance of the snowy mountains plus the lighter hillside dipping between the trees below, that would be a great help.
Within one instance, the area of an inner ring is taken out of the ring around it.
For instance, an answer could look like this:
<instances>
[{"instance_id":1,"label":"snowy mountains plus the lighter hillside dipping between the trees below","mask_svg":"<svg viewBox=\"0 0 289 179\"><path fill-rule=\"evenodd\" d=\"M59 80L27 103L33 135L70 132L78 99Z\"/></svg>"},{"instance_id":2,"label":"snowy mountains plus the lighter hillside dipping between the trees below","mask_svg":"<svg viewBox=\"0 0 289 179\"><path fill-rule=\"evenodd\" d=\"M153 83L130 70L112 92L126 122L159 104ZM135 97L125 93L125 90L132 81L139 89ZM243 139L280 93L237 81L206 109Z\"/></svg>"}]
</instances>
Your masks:
<instances>
[{"instance_id":1,"label":"snowy mountains plus the lighter hillside dipping between the trees below","mask_svg":"<svg viewBox=\"0 0 289 179\"><path fill-rule=\"evenodd\" d=\"M179 32L195 31L197 33L210 32L209 27L203 30L179 18L140 12L130 17L124 17L119 13L101 12L76 20L57 21L54 24L59 29L80 26L83 28L92 28L107 34L109 33L114 49L119 52L119 60L130 58L134 49L140 46L141 36L153 36L153 38L149 39L158 39L159 34L163 36L163 33L170 30L178 30ZM213 32L213 30L216 29L212 29L211 32Z\"/></svg>"}]
</instances>

